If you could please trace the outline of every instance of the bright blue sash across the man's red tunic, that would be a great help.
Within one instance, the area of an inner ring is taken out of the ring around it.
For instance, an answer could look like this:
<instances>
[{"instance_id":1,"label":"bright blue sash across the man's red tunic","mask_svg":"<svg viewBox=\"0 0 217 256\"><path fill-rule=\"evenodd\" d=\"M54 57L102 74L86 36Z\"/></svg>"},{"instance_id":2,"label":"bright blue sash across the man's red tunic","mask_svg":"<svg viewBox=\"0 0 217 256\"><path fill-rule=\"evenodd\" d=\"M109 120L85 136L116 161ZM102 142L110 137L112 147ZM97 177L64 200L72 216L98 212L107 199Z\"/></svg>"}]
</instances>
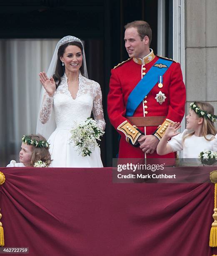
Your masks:
<instances>
[{"instance_id":1,"label":"bright blue sash across the man's red tunic","mask_svg":"<svg viewBox=\"0 0 217 256\"><path fill-rule=\"evenodd\" d=\"M149 72L138 82L127 99L126 116L132 116L138 105L158 82L159 76L165 74L173 61L158 59ZM162 64L162 65L159 65ZM164 67L165 66L165 67Z\"/></svg>"}]
</instances>

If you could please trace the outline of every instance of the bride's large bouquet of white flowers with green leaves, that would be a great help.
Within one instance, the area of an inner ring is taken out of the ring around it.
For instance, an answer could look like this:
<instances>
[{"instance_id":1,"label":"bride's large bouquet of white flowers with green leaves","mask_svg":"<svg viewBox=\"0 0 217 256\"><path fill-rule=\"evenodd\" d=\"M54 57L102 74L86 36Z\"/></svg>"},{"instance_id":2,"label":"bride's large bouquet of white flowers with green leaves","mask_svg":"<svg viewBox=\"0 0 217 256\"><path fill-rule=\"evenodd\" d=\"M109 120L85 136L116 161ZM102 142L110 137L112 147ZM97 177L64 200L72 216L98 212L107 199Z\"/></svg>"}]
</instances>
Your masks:
<instances>
[{"instance_id":1,"label":"bride's large bouquet of white flowers with green leaves","mask_svg":"<svg viewBox=\"0 0 217 256\"><path fill-rule=\"evenodd\" d=\"M74 143L78 146L77 151L82 156L90 156L95 146L99 146L97 141L101 141L100 137L105 133L98 126L97 122L92 118L81 122L76 127L73 127L70 131L72 136L70 137L70 143Z\"/></svg>"}]
</instances>

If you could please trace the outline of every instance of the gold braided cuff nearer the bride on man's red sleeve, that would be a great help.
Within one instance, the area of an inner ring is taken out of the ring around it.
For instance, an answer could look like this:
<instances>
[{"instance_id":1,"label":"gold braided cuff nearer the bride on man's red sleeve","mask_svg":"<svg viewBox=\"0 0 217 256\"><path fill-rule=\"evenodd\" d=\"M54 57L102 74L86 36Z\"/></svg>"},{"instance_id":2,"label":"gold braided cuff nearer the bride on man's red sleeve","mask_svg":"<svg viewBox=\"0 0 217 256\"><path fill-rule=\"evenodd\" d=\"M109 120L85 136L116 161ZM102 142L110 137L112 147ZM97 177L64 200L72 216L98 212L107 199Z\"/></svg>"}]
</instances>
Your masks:
<instances>
[{"instance_id":1,"label":"gold braided cuff nearer the bride on man's red sleeve","mask_svg":"<svg viewBox=\"0 0 217 256\"><path fill-rule=\"evenodd\" d=\"M117 130L122 131L126 136L126 141L130 143L130 140L132 145L134 145L137 141L137 138L139 138L139 136L141 135L141 133L137 131L136 128L137 127L135 125L131 125L126 120L117 127Z\"/></svg>"}]
</instances>

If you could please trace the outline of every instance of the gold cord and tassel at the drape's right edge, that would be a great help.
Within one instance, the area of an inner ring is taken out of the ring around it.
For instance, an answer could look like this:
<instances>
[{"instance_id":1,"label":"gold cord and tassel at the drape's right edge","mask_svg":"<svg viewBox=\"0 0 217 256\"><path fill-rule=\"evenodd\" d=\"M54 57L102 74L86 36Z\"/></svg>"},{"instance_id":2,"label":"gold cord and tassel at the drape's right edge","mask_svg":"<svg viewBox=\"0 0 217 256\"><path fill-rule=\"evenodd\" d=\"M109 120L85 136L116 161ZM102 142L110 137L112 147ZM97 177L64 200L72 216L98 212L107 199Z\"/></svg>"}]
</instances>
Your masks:
<instances>
[{"instance_id":1,"label":"gold cord and tassel at the drape's right edge","mask_svg":"<svg viewBox=\"0 0 217 256\"><path fill-rule=\"evenodd\" d=\"M212 215L214 222L210 230L210 247L217 247L217 183L215 183L214 192L214 213Z\"/></svg>"}]
</instances>

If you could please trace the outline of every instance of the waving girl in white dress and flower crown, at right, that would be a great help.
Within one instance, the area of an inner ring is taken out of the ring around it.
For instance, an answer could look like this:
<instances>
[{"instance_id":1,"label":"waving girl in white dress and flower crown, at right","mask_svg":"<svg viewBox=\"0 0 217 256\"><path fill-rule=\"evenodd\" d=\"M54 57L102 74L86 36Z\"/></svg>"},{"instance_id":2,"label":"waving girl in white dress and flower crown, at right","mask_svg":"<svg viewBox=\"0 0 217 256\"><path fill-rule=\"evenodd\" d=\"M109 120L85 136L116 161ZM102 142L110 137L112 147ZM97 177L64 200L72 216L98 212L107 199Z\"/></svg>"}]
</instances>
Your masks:
<instances>
[{"instance_id":1,"label":"waving girl in white dress and flower crown, at right","mask_svg":"<svg viewBox=\"0 0 217 256\"><path fill-rule=\"evenodd\" d=\"M217 130L214 126L217 116L214 115L213 106L207 102L192 102L186 120L183 133L177 133L180 123L167 127L157 145L157 154L182 151L183 158L199 158L201 151L217 151ZM172 139L169 141L170 138Z\"/></svg>"}]
</instances>

